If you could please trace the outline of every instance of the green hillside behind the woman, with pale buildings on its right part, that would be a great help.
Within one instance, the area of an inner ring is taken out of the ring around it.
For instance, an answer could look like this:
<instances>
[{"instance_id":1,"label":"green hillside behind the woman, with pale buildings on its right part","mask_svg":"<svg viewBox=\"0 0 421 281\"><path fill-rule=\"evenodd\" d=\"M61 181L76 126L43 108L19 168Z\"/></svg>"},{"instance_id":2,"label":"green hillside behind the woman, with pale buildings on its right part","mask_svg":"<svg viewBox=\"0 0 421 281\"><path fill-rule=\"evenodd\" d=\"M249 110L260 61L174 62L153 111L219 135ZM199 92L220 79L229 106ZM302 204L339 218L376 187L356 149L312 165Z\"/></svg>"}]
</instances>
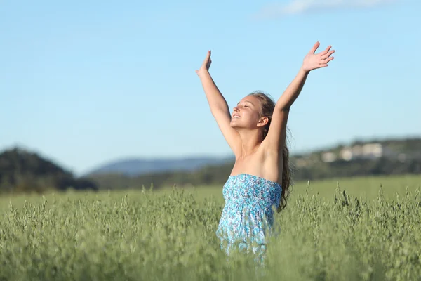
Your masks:
<instances>
[{"instance_id":1,"label":"green hillside behind the woman, with pale buildings on its right part","mask_svg":"<svg viewBox=\"0 0 421 281\"><path fill-rule=\"evenodd\" d=\"M370 175L421 174L421 138L355 141L303 155L292 155L293 181ZM196 171L166 171L139 176L92 175L100 188L154 188L171 185L222 185L234 161Z\"/></svg>"}]
</instances>

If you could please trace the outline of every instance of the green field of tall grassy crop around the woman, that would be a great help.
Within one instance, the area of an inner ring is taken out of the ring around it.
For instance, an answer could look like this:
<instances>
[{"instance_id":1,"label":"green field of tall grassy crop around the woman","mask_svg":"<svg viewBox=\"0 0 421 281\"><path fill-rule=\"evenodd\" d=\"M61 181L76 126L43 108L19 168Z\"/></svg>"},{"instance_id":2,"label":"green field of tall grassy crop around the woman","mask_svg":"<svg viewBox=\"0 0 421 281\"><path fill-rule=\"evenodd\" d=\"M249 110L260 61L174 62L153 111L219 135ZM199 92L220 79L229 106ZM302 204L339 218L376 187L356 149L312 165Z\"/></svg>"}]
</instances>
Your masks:
<instances>
[{"instance_id":1,"label":"green field of tall grassy crop around the woman","mask_svg":"<svg viewBox=\"0 0 421 281\"><path fill-rule=\"evenodd\" d=\"M220 250L221 186L3 195L0 280L421 280L420 189L297 183L265 267Z\"/></svg>"}]
</instances>

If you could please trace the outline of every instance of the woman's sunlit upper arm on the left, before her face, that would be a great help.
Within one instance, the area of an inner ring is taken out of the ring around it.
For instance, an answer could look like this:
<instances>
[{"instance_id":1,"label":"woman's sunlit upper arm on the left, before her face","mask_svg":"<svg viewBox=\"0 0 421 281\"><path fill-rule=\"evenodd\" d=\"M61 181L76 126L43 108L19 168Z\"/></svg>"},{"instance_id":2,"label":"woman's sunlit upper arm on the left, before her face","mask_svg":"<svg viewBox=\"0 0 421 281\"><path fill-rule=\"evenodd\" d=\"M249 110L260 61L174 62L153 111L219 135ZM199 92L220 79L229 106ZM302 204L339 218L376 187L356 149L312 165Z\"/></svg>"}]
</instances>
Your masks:
<instances>
[{"instance_id":1,"label":"woman's sunlit upper arm on the left, before her face","mask_svg":"<svg viewBox=\"0 0 421 281\"><path fill-rule=\"evenodd\" d=\"M213 110L212 114L218 123L222 135L224 135L229 147L234 152L234 155L239 155L239 151L241 150L241 138L239 133L229 125L231 123L229 111Z\"/></svg>"}]
</instances>

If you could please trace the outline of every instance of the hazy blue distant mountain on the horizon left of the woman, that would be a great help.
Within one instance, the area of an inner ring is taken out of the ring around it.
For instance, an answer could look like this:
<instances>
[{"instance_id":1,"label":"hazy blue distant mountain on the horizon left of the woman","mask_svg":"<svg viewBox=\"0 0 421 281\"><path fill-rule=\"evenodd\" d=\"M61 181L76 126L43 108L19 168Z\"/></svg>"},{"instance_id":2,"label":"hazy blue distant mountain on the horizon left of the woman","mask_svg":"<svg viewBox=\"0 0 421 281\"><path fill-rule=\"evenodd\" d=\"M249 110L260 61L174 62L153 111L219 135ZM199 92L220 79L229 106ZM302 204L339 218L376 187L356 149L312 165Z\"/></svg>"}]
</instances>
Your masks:
<instances>
[{"instance_id":1,"label":"hazy blue distant mountain on the horizon left of the woman","mask_svg":"<svg viewBox=\"0 0 421 281\"><path fill-rule=\"evenodd\" d=\"M102 165L88 176L100 174L121 174L125 176L140 176L143 174L166 171L194 171L208 165L224 164L231 161L230 157L186 157L179 159L123 159Z\"/></svg>"}]
</instances>

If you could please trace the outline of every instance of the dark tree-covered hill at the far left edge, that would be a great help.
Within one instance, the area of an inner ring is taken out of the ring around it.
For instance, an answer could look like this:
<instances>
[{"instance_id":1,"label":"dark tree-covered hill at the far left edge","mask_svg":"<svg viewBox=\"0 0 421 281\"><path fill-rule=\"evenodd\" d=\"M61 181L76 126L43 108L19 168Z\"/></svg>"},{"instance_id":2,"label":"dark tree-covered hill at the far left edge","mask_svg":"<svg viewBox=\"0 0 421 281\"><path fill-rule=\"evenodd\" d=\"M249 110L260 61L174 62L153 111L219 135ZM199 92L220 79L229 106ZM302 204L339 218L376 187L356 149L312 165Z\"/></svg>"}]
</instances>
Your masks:
<instances>
[{"instance_id":1,"label":"dark tree-covered hill at the far left edge","mask_svg":"<svg viewBox=\"0 0 421 281\"><path fill-rule=\"evenodd\" d=\"M98 190L88 178L72 173L40 155L21 148L0 154L0 192L44 192L48 189Z\"/></svg>"}]
</instances>

